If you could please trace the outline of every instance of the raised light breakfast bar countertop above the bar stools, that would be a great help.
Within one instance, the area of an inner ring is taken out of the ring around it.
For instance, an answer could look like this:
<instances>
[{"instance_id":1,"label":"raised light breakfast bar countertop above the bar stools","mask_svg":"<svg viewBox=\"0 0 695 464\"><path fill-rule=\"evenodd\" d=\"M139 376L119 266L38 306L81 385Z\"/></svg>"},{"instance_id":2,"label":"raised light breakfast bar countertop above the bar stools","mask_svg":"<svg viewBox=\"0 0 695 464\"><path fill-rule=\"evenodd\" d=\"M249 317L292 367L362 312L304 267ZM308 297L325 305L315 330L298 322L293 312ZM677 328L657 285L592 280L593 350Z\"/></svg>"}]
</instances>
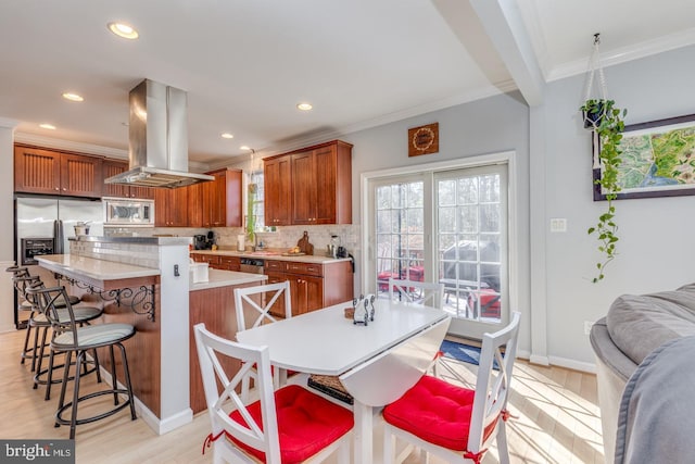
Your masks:
<instances>
[{"instance_id":1,"label":"raised light breakfast bar countertop above the bar stools","mask_svg":"<svg viewBox=\"0 0 695 464\"><path fill-rule=\"evenodd\" d=\"M156 268L94 260L75 254L42 254L36 256L36 260L41 267L74 278L85 276L94 280L117 280L160 275L160 269Z\"/></svg>"}]
</instances>

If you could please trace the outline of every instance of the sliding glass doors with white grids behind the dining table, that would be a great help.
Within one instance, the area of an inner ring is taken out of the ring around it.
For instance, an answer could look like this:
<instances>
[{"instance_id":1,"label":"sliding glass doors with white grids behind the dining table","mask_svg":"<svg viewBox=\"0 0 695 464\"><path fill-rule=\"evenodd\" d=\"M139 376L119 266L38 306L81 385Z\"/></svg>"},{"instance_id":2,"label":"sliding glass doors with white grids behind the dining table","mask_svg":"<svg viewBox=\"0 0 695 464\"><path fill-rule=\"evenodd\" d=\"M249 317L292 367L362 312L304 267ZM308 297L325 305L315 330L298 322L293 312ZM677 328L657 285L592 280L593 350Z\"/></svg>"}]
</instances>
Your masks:
<instances>
[{"instance_id":1,"label":"sliding glass doors with white grids behind the dining table","mask_svg":"<svg viewBox=\"0 0 695 464\"><path fill-rule=\"evenodd\" d=\"M369 272L444 285L450 331L481 338L507 321L507 166L429 171L369 181ZM371 290L370 290L371 291Z\"/></svg>"}]
</instances>

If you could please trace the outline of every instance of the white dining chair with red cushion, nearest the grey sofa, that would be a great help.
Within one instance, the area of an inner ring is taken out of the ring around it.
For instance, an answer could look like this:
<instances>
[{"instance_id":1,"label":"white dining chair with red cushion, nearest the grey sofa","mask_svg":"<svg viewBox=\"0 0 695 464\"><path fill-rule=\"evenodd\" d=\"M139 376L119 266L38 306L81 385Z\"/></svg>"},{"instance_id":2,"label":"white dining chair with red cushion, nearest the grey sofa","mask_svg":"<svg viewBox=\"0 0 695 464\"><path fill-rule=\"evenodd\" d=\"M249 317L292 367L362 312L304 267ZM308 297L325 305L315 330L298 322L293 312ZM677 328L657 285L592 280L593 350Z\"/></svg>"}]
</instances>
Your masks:
<instances>
[{"instance_id":1,"label":"white dining chair with red cushion, nearest the grey sofa","mask_svg":"<svg viewBox=\"0 0 695 464\"><path fill-rule=\"evenodd\" d=\"M505 328L483 335L475 390L424 376L383 409L384 464L401 462L409 454L406 449L396 459L396 438L447 463L476 464L496 439L500 463L509 463L505 421L519 319L520 313L515 312ZM470 414L462 414L467 410Z\"/></svg>"}]
</instances>

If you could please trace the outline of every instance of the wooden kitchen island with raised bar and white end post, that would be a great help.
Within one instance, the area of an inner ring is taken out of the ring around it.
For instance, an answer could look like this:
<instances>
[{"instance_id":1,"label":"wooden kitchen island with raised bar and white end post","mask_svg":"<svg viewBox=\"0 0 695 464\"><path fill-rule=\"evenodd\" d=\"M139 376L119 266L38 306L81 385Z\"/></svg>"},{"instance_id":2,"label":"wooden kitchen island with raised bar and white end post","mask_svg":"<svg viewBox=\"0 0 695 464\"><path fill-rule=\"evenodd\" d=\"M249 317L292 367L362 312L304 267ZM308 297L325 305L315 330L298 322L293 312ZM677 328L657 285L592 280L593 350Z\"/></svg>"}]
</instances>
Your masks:
<instances>
[{"instance_id":1,"label":"wooden kitchen island with raised bar and white end post","mask_svg":"<svg viewBox=\"0 0 695 464\"><path fill-rule=\"evenodd\" d=\"M70 254L38 260L61 275L71 292L102 305L103 322L136 327L136 336L124 343L136 406L138 416L157 434L192 421L191 402L198 393L191 384L200 374L191 371L191 325L236 321L233 288L265 280L262 275L213 269L208 283L191 285L189 243L186 237L79 236L71 239ZM230 330L236 335L236 322L222 327L225 333L219 335L229 336ZM108 371L102 365L109 379ZM191 381L181 381L185 378Z\"/></svg>"}]
</instances>

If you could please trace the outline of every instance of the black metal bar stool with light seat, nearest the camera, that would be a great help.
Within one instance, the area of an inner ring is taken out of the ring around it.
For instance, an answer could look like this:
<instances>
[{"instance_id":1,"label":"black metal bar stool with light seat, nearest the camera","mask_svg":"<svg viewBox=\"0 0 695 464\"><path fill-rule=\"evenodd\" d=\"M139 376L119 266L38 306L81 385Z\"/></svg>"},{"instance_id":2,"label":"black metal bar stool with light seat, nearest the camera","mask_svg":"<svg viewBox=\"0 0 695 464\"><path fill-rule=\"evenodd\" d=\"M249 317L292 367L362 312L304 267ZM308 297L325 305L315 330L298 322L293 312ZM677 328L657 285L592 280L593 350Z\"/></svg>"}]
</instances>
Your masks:
<instances>
[{"instance_id":1,"label":"black metal bar stool with light seat, nearest the camera","mask_svg":"<svg viewBox=\"0 0 695 464\"><path fill-rule=\"evenodd\" d=\"M55 426L70 425L70 438L75 438L75 428L80 424L88 424L116 414L126 406L130 406L130 417L137 418L135 413L135 401L132 398L132 386L130 384L130 371L128 368L128 359L123 342L135 335L135 327L129 324L97 324L92 326L79 327L75 319L75 311L73 305L67 302L65 312L67 318L61 314L56 308L56 301L63 299L67 301L67 293L64 287L53 288L36 288L31 287L27 290L28 296L35 296L41 312L51 323L55 335L51 340L51 352L65 353L65 367L63 368L63 383L61 385L61 397L55 412ZM63 313L65 314L65 313ZM100 390L85 396L79 396L80 371L87 362L86 353L97 348L108 347L111 354L111 380L112 388ZM123 371L125 375L125 387L118 388L116 377L116 363L114 356L114 347L121 350L121 359L123 361ZM70 380L70 365L72 355L75 354L75 386L73 391L73 401L65 403L65 391L67 381ZM90 417L77 418L77 409L80 401L90 400L106 394L113 394L114 407ZM121 402L119 396L124 394L127 399ZM63 415L70 412L70 419Z\"/></svg>"}]
</instances>

